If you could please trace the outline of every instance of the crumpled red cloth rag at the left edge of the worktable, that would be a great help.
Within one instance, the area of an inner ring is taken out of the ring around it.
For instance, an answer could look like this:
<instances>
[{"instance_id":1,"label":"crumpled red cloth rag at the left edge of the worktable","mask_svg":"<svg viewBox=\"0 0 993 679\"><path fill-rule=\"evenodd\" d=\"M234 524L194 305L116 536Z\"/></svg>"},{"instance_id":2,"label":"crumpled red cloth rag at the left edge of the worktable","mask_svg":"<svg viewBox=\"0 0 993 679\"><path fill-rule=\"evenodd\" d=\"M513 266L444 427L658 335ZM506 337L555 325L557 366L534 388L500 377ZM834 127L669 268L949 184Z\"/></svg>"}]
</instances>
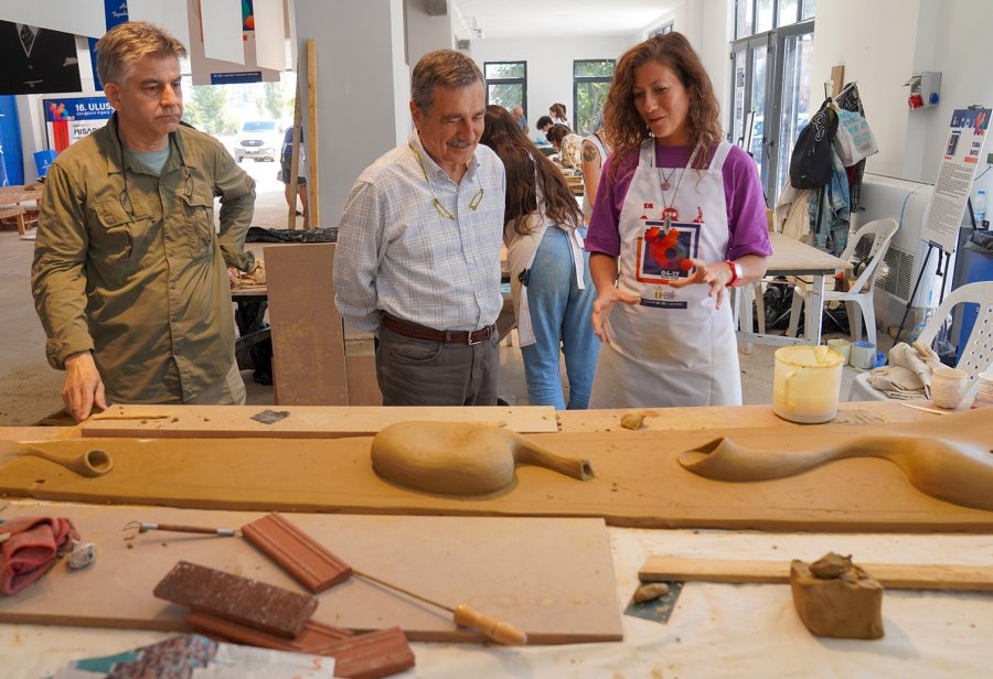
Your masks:
<instances>
[{"instance_id":1,"label":"crumpled red cloth rag at the left edge of the worktable","mask_svg":"<svg viewBox=\"0 0 993 679\"><path fill-rule=\"evenodd\" d=\"M0 592L14 594L49 572L79 534L68 519L24 516L0 524Z\"/></svg>"}]
</instances>

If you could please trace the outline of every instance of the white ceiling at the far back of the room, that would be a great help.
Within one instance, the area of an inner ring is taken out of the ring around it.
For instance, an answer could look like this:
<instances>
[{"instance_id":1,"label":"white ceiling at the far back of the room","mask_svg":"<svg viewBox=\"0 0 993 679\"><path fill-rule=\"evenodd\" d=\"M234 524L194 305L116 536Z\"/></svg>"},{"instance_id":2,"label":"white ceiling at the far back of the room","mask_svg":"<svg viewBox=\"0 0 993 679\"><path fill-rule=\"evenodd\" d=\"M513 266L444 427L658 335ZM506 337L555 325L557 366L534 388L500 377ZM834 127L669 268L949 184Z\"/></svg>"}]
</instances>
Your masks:
<instances>
[{"instance_id":1,"label":"white ceiling at the far back of the room","mask_svg":"<svg viewBox=\"0 0 993 679\"><path fill-rule=\"evenodd\" d=\"M669 13L675 0L449 0L469 28L488 37L633 35ZM474 24L473 25L473 18ZM458 25L458 14L455 15ZM472 36L478 37L478 36Z\"/></svg>"}]
</instances>

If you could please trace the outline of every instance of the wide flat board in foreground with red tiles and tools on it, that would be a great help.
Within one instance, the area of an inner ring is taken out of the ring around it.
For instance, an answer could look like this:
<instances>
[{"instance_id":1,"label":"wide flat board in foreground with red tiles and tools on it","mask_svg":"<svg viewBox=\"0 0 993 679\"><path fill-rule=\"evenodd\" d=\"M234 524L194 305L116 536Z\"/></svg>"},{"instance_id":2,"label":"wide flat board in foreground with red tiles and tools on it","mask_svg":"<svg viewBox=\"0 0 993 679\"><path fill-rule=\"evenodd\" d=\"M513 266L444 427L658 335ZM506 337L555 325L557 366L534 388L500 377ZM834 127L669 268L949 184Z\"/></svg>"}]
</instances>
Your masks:
<instances>
[{"instance_id":1,"label":"wide flat board in foreground with red tiles and tools on it","mask_svg":"<svg viewBox=\"0 0 993 679\"><path fill-rule=\"evenodd\" d=\"M122 530L130 520L239 528L261 514L161 507L11 507L53 511L97 543L93 567L58 563L15 596L0 622L182 630L185 610L152 590L182 559L307 593L242 538ZM455 606L502 617L532 644L622 638L610 543L595 519L318 516L287 518L353 568ZM314 619L355 630L399 625L412 640L480 640L450 613L356 578L318 595Z\"/></svg>"}]
</instances>

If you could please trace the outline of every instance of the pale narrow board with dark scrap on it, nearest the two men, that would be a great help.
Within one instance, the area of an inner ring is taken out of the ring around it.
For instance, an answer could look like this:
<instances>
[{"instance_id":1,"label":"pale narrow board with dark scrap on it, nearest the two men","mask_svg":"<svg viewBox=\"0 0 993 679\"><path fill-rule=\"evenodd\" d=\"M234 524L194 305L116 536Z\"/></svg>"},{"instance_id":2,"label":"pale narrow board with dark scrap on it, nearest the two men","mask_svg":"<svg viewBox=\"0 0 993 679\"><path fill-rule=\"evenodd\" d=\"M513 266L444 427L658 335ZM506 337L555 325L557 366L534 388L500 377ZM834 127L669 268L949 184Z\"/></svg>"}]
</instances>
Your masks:
<instances>
[{"instance_id":1,"label":"pale narrow board with dark scrap on it, nearest the two men","mask_svg":"<svg viewBox=\"0 0 993 679\"><path fill-rule=\"evenodd\" d=\"M252 416L264 410L289 417L264 424ZM154 418L143 416L156 416ZM127 419L100 419L125 417ZM472 408L412 408L403 406L113 406L79 425L86 438L138 436L149 439L278 438L333 439L374 434L387 424L406 420L485 422L521 433L558 431L552 406L492 406Z\"/></svg>"}]
</instances>

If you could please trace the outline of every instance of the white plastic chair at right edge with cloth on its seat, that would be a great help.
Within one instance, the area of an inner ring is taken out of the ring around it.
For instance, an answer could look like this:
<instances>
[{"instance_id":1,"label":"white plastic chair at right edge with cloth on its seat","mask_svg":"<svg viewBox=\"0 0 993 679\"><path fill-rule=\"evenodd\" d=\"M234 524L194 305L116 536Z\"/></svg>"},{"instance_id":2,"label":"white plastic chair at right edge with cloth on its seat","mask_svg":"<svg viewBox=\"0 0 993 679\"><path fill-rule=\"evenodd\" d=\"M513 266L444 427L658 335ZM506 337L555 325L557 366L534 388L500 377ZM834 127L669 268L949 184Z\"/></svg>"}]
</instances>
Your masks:
<instances>
[{"instance_id":1,"label":"white plastic chair at right edge with cloth on its seat","mask_svg":"<svg viewBox=\"0 0 993 679\"><path fill-rule=\"evenodd\" d=\"M969 381L972 382L969 388L971 391L976 388L975 376L993 365L993 281L969 283L952 290L951 294L938 305L938 310L928 321L917 341L930 345L954 305L963 303L980 305L975 324L972 326L965 345L961 347L959 363L955 366L969 374ZM885 401L889 398L886 392L873 387L868 382L868 373L861 373L852 380L852 386L848 388L850 401ZM968 394L969 391L967 391L967 398Z\"/></svg>"}]
</instances>

